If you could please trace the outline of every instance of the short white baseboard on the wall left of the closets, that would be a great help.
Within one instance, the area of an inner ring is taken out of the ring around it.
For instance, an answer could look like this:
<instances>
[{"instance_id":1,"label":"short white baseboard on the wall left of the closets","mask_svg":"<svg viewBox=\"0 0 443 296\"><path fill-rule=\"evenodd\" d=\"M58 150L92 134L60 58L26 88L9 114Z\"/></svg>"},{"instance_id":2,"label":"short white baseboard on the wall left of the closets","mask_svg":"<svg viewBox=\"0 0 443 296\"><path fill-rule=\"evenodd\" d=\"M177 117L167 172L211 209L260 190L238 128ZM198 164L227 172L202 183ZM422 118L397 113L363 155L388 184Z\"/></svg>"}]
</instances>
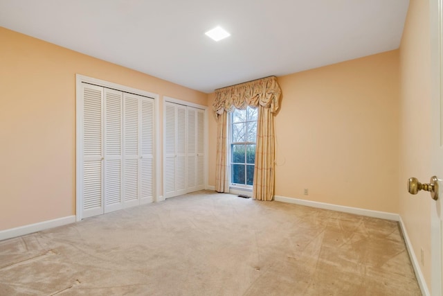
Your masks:
<instances>
[{"instance_id":1,"label":"short white baseboard on the wall left of the closets","mask_svg":"<svg viewBox=\"0 0 443 296\"><path fill-rule=\"evenodd\" d=\"M24 236L26 234L32 234L34 232L39 232L45 229L58 227L66 224L75 223L75 216L66 216L62 218L57 218L53 220L47 220L39 223L34 223L30 225L24 225L16 228L6 229L0 231L0 241L8 238L15 238L17 236Z\"/></svg>"}]
</instances>

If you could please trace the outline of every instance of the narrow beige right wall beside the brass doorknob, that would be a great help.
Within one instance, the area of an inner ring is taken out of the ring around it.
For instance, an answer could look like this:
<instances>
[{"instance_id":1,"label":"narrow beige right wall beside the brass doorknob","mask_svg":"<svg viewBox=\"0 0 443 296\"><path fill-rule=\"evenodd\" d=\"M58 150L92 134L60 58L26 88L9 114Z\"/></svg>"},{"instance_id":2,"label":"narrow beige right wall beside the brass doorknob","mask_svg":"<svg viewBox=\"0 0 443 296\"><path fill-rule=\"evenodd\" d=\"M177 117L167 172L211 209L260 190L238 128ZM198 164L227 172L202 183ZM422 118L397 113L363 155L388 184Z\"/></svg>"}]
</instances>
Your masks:
<instances>
[{"instance_id":1,"label":"narrow beige right wall beside the brass doorknob","mask_svg":"<svg viewBox=\"0 0 443 296\"><path fill-rule=\"evenodd\" d=\"M406 180L431 177L431 64L428 1L411 0L400 45L399 214L431 288L431 198L410 195Z\"/></svg>"}]
</instances>

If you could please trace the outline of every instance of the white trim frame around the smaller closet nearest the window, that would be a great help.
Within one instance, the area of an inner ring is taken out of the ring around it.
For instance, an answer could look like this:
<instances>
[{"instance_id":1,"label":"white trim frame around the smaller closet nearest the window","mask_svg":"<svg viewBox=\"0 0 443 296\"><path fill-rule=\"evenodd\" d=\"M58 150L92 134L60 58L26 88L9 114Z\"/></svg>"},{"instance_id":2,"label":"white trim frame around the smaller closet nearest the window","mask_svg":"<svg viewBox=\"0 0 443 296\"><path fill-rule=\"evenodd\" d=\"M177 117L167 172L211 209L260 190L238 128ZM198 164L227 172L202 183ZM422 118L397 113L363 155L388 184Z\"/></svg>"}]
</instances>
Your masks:
<instances>
[{"instance_id":1,"label":"white trim frame around the smaller closet nearest the window","mask_svg":"<svg viewBox=\"0 0 443 296\"><path fill-rule=\"evenodd\" d=\"M165 118L165 102L169 102L169 103L175 103L175 104L179 104L179 105L185 105L186 107L194 107L200 110L204 110L204 189L209 189L208 186L208 106L204 106L204 105L199 105L196 103L190 103L188 101L183 101L183 100L179 100L177 98L171 98L169 96L163 96L163 180L165 180L165 139L166 139L166 135L165 135L165 125L166 125L166 118ZM188 119L188 113L186 112L186 119ZM186 136L186 138L188 138ZM188 146L188 144L186 144L186 146ZM187 151L187 150L186 150ZM186 184L187 184L188 180L186 180ZM163 182L164 183L164 182ZM165 184L163 184L163 195L165 193Z\"/></svg>"}]
</instances>

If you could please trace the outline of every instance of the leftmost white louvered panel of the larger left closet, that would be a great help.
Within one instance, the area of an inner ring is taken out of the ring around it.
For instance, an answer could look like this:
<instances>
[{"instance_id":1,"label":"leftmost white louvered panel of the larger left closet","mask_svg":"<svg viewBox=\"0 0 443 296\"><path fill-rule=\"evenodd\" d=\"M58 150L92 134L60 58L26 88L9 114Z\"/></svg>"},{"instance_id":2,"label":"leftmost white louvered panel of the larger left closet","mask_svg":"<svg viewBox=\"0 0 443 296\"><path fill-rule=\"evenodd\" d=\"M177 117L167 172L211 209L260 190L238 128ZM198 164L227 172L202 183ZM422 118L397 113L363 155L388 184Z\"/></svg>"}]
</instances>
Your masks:
<instances>
[{"instance_id":1,"label":"leftmost white louvered panel of the larger left closet","mask_svg":"<svg viewBox=\"0 0 443 296\"><path fill-rule=\"evenodd\" d=\"M103 88L82 83L82 218L103 214Z\"/></svg>"}]
</instances>

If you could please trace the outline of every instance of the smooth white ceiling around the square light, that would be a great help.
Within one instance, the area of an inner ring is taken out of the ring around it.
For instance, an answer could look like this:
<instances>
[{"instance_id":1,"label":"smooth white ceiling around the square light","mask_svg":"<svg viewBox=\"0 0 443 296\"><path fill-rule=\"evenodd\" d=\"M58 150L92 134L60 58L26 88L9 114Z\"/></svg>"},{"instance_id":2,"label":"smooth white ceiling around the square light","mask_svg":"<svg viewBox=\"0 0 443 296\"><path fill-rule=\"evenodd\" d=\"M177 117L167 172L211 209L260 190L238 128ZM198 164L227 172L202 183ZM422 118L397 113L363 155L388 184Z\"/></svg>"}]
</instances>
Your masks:
<instances>
[{"instance_id":1,"label":"smooth white ceiling around the square light","mask_svg":"<svg viewBox=\"0 0 443 296\"><path fill-rule=\"evenodd\" d=\"M0 0L0 26L201 92L397 49L408 0ZM204 33L222 26L231 36ZM0 40L1 44L1 40Z\"/></svg>"}]
</instances>

